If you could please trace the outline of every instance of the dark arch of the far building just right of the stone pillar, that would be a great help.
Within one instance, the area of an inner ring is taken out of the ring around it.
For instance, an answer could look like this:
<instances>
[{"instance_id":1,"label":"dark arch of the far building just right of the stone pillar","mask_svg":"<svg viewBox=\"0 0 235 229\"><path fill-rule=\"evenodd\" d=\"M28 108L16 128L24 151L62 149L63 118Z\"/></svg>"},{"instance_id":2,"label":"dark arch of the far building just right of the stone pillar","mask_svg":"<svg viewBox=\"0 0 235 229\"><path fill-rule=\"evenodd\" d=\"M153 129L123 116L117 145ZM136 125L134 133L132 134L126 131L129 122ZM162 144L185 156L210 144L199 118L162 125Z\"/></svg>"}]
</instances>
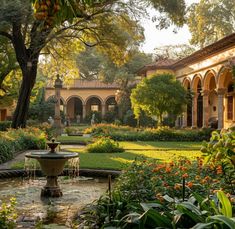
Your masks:
<instances>
[{"instance_id":1,"label":"dark arch of the far building just right of the stone pillar","mask_svg":"<svg viewBox=\"0 0 235 229\"><path fill-rule=\"evenodd\" d=\"M80 123L83 118L83 99L80 96L72 95L66 100L67 115L70 121Z\"/></svg>"}]
</instances>

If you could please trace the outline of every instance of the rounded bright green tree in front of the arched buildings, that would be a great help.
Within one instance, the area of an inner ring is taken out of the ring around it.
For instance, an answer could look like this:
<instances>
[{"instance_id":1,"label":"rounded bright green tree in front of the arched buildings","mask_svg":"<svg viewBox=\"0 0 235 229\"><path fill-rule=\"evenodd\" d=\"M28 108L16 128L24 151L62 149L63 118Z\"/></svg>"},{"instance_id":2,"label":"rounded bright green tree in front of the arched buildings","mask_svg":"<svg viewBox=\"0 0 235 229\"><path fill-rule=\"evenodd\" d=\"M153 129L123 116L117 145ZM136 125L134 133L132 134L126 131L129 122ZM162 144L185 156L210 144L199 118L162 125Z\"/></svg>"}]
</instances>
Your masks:
<instances>
[{"instance_id":1,"label":"rounded bright green tree in front of the arched buildings","mask_svg":"<svg viewBox=\"0 0 235 229\"><path fill-rule=\"evenodd\" d=\"M154 75L144 78L132 90L131 104L137 117L139 110L143 110L149 116L157 117L158 125L161 125L164 115L177 116L182 113L187 103L186 93L173 75Z\"/></svg>"}]
</instances>

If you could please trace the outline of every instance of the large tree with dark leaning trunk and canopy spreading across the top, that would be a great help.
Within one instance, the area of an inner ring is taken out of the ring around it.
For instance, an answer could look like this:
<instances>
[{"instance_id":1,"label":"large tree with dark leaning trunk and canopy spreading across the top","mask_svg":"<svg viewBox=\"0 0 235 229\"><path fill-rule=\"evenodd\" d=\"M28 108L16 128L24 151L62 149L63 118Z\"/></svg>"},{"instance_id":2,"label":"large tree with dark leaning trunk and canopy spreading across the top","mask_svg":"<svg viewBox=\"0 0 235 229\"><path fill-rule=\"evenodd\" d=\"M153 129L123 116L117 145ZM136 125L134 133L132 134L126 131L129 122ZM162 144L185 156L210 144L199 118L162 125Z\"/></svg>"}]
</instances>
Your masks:
<instances>
[{"instance_id":1,"label":"large tree with dark leaning trunk and canopy spreading across the top","mask_svg":"<svg viewBox=\"0 0 235 229\"><path fill-rule=\"evenodd\" d=\"M175 24L183 24L184 1L171 2L174 4L163 0L1 0L0 35L11 42L22 71L12 127L26 126L39 56L48 44L76 39L87 46L100 45L115 60L117 53L122 56L130 46L131 37L138 37L137 16L149 4ZM123 26L127 23L128 29Z\"/></svg>"}]
</instances>

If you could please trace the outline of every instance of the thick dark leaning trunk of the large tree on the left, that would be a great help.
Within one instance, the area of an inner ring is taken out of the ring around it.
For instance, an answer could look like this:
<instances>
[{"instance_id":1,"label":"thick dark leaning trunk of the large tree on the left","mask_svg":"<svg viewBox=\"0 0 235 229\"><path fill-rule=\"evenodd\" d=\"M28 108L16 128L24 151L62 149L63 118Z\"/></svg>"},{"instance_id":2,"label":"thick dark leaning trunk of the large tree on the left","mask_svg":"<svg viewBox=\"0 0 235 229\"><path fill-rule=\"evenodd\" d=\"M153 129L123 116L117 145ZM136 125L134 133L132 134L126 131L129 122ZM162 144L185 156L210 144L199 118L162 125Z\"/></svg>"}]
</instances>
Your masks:
<instances>
[{"instance_id":1,"label":"thick dark leaning trunk of the large tree on the left","mask_svg":"<svg viewBox=\"0 0 235 229\"><path fill-rule=\"evenodd\" d=\"M22 70L22 74L23 80L12 121L12 128L15 129L26 127L30 96L37 76L37 63L34 63L34 65L29 69Z\"/></svg>"}]
</instances>

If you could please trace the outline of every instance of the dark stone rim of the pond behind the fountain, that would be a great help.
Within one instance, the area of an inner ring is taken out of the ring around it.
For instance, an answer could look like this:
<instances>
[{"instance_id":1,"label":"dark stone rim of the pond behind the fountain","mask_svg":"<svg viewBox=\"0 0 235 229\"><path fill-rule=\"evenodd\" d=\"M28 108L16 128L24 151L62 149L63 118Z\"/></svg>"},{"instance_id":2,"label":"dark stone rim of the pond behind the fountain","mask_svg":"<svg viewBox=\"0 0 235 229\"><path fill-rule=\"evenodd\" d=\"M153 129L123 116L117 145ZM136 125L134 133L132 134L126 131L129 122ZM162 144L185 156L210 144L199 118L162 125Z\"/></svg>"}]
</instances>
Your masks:
<instances>
[{"instance_id":1,"label":"dark stone rim of the pond behind the fountain","mask_svg":"<svg viewBox=\"0 0 235 229\"><path fill-rule=\"evenodd\" d=\"M65 169L62 176L69 174L69 170ZM108 169L80 169L79 175L81 176L90 176L90 177L104 177L107 178L109 175L112 177L118 177L121 174L119 170L108 170ZM35 170L36 176L43 176L41 170ZM4 178L14 178L14 177L26 177L27 172L24 169L4 169L0 170L0 179Z\"/></svg>"}]
</instances>

